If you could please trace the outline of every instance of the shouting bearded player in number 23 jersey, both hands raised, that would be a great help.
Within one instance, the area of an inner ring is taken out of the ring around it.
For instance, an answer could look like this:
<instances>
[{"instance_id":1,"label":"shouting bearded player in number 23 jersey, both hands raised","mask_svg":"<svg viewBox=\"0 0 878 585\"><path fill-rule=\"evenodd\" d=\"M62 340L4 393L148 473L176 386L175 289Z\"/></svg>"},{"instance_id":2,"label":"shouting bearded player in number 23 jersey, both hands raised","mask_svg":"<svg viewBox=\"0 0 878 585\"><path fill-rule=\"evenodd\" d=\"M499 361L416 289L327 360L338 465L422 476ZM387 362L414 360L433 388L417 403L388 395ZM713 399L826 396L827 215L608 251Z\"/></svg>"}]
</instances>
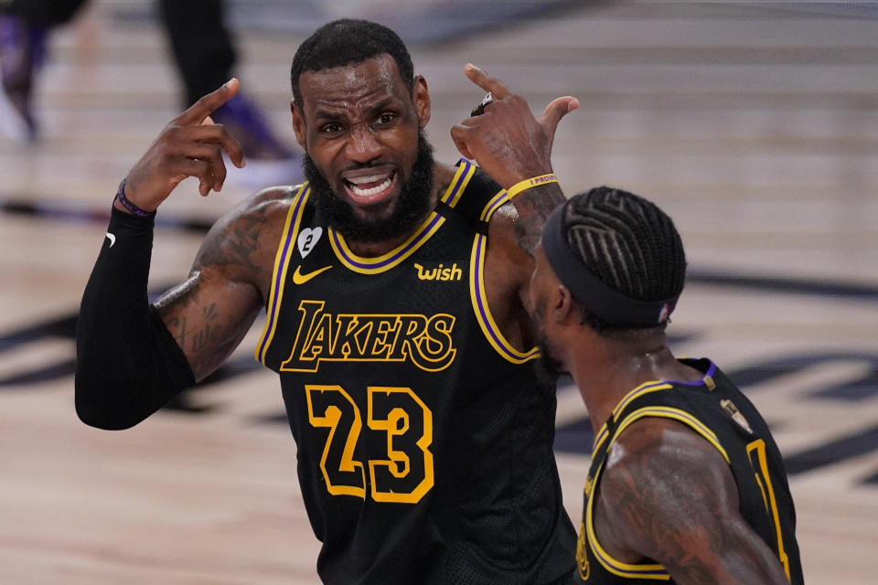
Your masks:
<instances>
[{"instance_id":1,"label":"shouting bearded player in number 23 jersey, both hands raised","mask_svg":"<svg viewBox=\"0 0 878 585\"><path fill-rule=\"evenodd\" d=\"M244 164L209 118L231 80L134 165L83 296L76 406L105 429L205 378L266 310L255 354L280 375L326 583L575 578L554 388L536 378L523 298L563 200L552 138L578 102L552 101L537 120L480 69L466 75L493 101L454 139L485 172L433 160L427 82L396 34L321 27L292 67L305 185L221 218L187 280L147 304L155 209L187 176L219 191L221 153Z\"/></svg>"}]
</instances>

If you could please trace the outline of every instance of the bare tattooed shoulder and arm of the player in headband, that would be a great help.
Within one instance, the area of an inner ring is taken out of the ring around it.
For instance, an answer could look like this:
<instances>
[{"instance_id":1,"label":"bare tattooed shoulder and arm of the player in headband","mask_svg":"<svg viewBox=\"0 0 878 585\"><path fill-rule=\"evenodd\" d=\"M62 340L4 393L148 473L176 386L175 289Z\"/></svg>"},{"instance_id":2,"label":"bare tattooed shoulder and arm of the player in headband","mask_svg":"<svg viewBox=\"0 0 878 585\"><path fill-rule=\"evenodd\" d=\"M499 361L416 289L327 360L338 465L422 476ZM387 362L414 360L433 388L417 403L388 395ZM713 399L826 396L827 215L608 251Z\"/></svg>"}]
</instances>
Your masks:
<instances>
[{"instance_id":1,"label":"bare tattooed shoulder and arm of the player in headband","mask_svg":"<svg viewBox=\"0 0 878 585\"><path fill-rule=\"evenodd\" d=\"M598 531L663 564L681 584L777 582L779 561L740 516L737 486L719 452L691 431L640 434L631 437L633 449L608 462Z\"/></svg>"}]
</instances>

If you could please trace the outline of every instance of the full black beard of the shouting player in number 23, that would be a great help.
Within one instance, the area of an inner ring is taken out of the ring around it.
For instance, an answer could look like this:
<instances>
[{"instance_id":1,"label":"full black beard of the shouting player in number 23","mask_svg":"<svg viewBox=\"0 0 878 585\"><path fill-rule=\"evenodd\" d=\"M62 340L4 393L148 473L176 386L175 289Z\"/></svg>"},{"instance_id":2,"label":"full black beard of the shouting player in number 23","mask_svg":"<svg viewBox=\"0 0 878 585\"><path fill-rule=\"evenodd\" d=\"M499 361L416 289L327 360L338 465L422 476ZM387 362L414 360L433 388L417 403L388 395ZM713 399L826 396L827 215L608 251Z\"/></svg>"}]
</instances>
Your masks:
<instances>
[{"instance_id":1,"label":"full black beard of the shouting player in number 23","mask_svg":"<svg viewBox=\"0 0 878 585\"><path fill-rule=\"evenodd\" d=\"M352 168L369 168L369 164ZM412 165L412 175L402 185L396 207L390 217L358 218L353 206L338 197L327 179L317 170L314 161L305 153L302 169L311 186L317 212L332 229L352 241L374 243L410 233L426 216L433 196L433 146L423 131L418 131L418 155Z\"/></svg>"}]
</instances>

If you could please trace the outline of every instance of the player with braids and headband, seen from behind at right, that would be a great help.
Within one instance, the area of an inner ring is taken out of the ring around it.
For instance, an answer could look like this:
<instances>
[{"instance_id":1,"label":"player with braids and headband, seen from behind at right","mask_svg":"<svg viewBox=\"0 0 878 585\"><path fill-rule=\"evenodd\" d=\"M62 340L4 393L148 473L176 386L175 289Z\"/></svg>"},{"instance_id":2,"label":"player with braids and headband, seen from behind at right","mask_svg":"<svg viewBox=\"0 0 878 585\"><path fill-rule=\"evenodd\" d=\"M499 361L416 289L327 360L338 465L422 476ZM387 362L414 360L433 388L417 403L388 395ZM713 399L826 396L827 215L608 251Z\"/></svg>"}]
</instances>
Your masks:
<instances>
[{"instance_id":1,"label":"player with braids and headband, seen from behind at right","mask_svg":"<svg viewBox=\"0 0 878 585\"><path fill-rule=\"evenodd\" d=\"M529 312L597 430L580 579L801 583L796 514L765 420L712 361L666 345L685 271L670 218L625 191L575 196L543 229Z\"/></svg>"}]
</instances>

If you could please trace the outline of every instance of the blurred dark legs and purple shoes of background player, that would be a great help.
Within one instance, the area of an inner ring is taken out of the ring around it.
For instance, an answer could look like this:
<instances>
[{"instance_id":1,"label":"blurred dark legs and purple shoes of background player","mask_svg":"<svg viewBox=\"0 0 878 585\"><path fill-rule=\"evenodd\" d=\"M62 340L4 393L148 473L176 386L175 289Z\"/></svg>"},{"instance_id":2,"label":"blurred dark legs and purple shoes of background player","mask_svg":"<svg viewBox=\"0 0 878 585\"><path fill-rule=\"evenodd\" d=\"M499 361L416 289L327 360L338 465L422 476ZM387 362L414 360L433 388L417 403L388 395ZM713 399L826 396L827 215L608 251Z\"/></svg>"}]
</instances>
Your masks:
<instances>
[{"instance_id":1,"label":"blurred dark legs and purple shoes of background player","mask_svg":"<svg viewBox=\"0 0 878 585\"><path fill-rule=\"evenodd\" d=\"M0 131L18 142L38 137L33 98L39 69L46 61L48 36L70 22L87 0L12 0L0 14ZM223 0L179 2L159 0L162 22L184 86L185 107L231 77L235 64L233 39L225 26ZM301 176L301 158L271 131L262 112L241 93L216 112L241 142L250 165L248 184L290 181Z\"/></svg>"}]
</instances>

